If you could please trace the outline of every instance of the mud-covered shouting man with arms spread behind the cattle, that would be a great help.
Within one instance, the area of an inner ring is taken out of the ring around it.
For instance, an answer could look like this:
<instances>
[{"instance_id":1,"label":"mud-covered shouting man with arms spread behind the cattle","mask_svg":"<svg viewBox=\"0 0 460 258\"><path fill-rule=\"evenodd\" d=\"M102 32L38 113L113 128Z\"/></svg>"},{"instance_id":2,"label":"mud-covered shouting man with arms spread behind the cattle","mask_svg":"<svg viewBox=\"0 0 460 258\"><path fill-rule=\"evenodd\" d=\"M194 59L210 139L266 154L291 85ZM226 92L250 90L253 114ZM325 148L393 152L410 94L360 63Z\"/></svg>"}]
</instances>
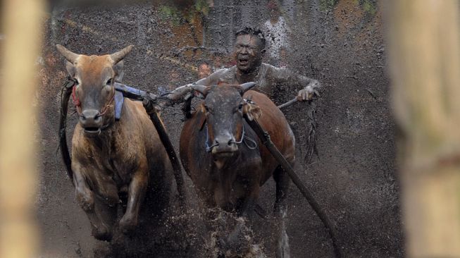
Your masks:
<instances>
[{"instance_id":1,"label":"mud-covered shouting man with arms spread behind the cattle","mask_svg":"<svg viewBox=\"0 0 460 258\"><path fill-rule=\"evenodd\" d=\"M244 27L236 34L234 58L236 66L218 70L203 78L195 84L218 85L220 82L228 84L242 84L256 82L254 90L262 92L275 100L277 94L284 89L295 87L297 100L306 101L312 99L320 84L317 80L293 73L287 68L277 68L268 63L262 63L266 52L266 40L259 29ZM193 84L178 87L168 95L173 102L181 102L182 97L193 93ZM300 89L300 90L299 90ZM298 90L298 92L297 92Z\"/></svg>"}]
</instances>

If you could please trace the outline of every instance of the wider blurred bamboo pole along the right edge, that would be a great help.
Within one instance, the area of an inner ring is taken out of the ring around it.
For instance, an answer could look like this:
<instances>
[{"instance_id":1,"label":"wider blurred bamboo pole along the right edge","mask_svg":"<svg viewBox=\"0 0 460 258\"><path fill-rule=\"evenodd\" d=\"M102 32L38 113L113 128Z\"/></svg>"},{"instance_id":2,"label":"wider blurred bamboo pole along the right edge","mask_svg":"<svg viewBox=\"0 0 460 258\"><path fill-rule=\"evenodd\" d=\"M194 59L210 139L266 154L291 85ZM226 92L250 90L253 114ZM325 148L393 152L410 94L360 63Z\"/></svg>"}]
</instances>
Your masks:
<instances>
[{"instance_id":1,"label":"wider blurred bamboo pole along the right edge","mask_svg":"<svg viewBox=\"0 0 460 258\"><path fill-rule=\"evenodd\" d=\"M459 2L387 7L407 254L460 257Z\"/></svg>"}]
</instances>

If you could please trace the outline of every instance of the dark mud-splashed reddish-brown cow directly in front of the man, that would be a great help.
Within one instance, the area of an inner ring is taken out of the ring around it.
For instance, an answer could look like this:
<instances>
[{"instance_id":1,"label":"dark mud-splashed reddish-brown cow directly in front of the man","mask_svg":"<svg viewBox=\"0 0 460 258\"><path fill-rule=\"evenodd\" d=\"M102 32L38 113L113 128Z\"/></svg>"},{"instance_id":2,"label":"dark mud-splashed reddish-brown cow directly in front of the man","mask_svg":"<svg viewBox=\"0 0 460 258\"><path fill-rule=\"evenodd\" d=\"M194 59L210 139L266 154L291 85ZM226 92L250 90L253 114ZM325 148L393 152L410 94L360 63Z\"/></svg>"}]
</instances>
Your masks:
<instances>
[{"instance_id":1,"label":"dark mud-splashed reddish-brown cow directly in front of the man","mask_svg":"<svg viewBox=\"0 0 460 258\"><path fill-rule=\"evenodd\" d=\"M180 135L180 157L207 207L236 211L240 216L254 211L261 185L273 176L276 182L274 210L280 220L277 257L289 257L284 218L290 179L243 116L260 116L259 123L290 164L294 163L294 135L285 116L266 95L246 92L252 86L252 82L236 86L194 86L205 99L199 111L185 122ZM243 94L256 104L245 102ZM223 242L232 242L236 235L231 233Z\"/></svg>"}]
</instances>

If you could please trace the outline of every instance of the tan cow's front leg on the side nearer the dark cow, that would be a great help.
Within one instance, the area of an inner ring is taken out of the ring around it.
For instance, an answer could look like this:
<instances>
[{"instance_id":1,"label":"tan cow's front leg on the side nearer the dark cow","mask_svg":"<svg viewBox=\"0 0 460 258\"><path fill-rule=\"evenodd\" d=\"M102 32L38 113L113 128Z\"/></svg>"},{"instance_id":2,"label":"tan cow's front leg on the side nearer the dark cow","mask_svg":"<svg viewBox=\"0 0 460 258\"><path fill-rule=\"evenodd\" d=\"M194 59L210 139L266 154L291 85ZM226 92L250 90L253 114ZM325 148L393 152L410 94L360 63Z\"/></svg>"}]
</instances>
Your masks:
<instances>
[{"instance_id":1,"label":"tan cow's front leg on the side nearer the dark cow","mask_svg":"<svg viewBox=\"0 0 460 258\"><path fill-rule=\"evenodd\" d=\"M120 219L120 230L123 233L134 231L139 219L139 210L144 199L149 181L147 168L138 170L132 177L128 190L126 211Z\"/></svg>"}]
</instances>

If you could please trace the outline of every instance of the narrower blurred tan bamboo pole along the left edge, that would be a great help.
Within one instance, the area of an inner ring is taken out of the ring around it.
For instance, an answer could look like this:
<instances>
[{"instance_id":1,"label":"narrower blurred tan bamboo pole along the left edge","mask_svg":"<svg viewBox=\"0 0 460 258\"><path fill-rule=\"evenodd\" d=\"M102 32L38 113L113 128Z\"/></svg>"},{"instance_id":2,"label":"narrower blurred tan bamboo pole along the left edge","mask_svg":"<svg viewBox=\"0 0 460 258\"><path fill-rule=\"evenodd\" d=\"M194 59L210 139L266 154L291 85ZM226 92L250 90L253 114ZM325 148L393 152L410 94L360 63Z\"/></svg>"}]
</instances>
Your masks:
<instances>
[{"instance_id":1,"label":"narrower blurred tan bamboo pole along the left edge","mask_svg":"<svg viewBox=\"0 0 460 258\"><path fill-rule=\"evenodd\" d=\"M0 78L0 257L37 256L34 135L43 0L3 0Z\"/></svg>"}]
</instances>

